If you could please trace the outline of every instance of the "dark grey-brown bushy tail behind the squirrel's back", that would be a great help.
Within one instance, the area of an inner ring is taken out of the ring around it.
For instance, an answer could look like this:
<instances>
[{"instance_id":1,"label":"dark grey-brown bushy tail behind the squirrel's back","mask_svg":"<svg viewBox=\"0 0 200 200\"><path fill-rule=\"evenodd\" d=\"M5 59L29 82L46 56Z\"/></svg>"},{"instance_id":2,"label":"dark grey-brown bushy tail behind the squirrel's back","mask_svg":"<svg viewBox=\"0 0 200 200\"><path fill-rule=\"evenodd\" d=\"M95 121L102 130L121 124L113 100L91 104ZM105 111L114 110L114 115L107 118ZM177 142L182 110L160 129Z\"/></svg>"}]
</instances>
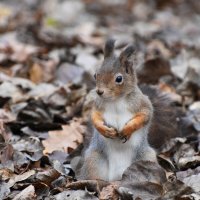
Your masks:
<instances>
[{"instance_id":1,"label":"dark grey-brown bushy tail behind the squirrel's back","mask_svg":"<svg viewBox=\"0 0 200 200\"><path fill-rule=\"evenodd\" d=\"M154 107L148 140L152 147L158 149L166 140L179 136L176 108L156 87L142 85L140 89L149 97Z\"/></svg>"}]
</instances>

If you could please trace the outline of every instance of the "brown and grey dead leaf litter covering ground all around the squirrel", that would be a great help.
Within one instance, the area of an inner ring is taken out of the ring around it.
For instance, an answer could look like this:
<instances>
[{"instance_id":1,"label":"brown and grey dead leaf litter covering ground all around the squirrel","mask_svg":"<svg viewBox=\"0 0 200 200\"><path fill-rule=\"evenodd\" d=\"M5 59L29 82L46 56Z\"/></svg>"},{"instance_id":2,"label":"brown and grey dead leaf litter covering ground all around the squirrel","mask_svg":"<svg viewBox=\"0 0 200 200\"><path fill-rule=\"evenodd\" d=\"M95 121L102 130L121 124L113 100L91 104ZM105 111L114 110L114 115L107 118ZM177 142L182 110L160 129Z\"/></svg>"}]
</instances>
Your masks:
<instances>
[{"instance_id":1,"label":"brown and grey dead leaf litter covering ground all around the squirrel","mask_svg":"<svg viewBox=\"0 0 200 200\"><path fill-rule=\"evenodd\" d=\"M199 12L195 0L2 1L0 199L200 199ZM139 83L171 99L176 137L120 181L76 180L108 37L136 44Z\"/></svg>"}]
</instances>

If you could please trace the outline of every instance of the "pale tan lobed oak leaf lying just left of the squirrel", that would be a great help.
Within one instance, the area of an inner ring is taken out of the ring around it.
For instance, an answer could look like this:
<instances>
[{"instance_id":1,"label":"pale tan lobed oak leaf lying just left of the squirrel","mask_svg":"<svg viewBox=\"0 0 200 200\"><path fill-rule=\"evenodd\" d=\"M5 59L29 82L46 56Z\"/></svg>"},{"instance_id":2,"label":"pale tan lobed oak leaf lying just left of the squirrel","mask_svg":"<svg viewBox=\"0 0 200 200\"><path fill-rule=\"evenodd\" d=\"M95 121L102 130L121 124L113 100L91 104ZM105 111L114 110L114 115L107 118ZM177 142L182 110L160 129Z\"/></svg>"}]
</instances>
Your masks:
<instances>
[{"instance_id":1,"label":"pale tan lobed oak leaf lying just left of the squirrel","mask_svg":"<svg viewBox=\"0 0 200 200\"><path fill-rule=\"evenodd\" d=\"M63 125L62 130L49 131L49 138L42 141L45 147L43 153L49 154L53 151L64 151L76 149L83 142L85 126L81 120L73 120L69 125Z\"/></svg>"}]
</instances>

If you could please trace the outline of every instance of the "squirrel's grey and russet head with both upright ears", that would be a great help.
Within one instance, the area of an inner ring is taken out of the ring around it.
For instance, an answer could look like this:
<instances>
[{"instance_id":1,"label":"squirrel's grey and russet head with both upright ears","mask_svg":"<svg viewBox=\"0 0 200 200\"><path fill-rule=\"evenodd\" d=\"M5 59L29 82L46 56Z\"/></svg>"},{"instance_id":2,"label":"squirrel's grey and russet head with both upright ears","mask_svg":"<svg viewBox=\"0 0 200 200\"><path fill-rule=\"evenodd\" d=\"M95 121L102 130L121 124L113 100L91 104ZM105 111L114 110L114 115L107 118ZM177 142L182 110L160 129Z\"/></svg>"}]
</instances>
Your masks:
<instances>
[{"instance_id":1,"label":"squirrel's grey and russet head with both upright ears","mask_svg":"<svg viewBox=\"0 0 200 200\"><path fill-rule=\"evenodd\" d=\"M137 85L135 47L127 46L119 56L114 55L115 41L110 39L104 47L104 61L96 70L96 92L105 100L116 100L131 93Z\"/></svg>"}]
</instances>

